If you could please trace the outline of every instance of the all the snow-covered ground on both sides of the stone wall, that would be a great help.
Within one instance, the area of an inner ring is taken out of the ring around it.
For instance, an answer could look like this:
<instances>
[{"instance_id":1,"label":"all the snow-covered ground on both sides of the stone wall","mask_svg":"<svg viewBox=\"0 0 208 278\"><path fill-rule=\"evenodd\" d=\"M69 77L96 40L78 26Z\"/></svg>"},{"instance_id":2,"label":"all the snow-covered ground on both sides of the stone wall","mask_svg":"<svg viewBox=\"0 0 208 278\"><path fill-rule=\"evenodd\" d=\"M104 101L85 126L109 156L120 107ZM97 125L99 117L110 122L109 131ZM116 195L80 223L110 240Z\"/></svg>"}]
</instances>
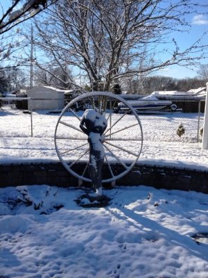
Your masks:
<instances>
[{"instance_id":1,"label":"all the snow-covered ground on both sides of the stone wall","mask_svg":"<svg viewBox=\"0 0 208 278\"><path fill-rule=\"evenodd\" d=\"M207 170L208 150L196 142L197 114L140 118L144 147L139 161ZM30 115L0 111L0 163L58 161L57 120L58 115L34 113L31 138ZM181 122L186 131L179 138ZM82 208L75 201L82 193L46 185L0 188L1 278L208 277L208 242L192 238L208 233L207 195L114 188L105 190L109 206Z\"/></svg>"}]
</instances>

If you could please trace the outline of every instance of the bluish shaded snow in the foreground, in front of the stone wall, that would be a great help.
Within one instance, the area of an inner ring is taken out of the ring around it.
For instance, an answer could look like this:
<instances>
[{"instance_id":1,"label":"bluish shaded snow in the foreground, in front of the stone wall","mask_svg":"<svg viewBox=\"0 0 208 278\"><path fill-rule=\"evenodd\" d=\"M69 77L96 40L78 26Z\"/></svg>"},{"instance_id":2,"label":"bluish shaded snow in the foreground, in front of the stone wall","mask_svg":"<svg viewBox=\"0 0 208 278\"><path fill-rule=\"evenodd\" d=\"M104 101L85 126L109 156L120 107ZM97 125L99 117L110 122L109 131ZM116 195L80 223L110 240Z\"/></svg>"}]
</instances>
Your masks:
<instances>
[{"instance_id":1,"label":"bluish shaded snow in the foreground, in front of the stone wall","mask_svg":"<svg viewBox=\"0 0 208 278\"><path fill-rule=\"evenodd\" d=\"M207 195L115 188L89 209L82 190L28 186L26 206L17 189L0 189L1 277L207 278L207 245L191 238L208 231Z\"/></svg>"}]
</instances>

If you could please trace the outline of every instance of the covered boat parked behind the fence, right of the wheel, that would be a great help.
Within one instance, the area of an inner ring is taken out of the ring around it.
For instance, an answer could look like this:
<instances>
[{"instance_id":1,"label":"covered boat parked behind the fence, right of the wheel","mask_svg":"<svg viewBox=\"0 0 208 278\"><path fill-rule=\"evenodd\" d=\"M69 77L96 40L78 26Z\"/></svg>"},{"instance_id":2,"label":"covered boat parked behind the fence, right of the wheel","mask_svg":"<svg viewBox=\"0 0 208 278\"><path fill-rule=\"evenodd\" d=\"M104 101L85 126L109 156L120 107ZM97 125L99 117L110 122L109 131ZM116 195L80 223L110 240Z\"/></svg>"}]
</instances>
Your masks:
<instances>
[{"instance_id":1,"label":"covered boat parked behind the fence, right of the wheel","mask_svg":"<svg viewBox=\"0 0 208 278\"><path fill-rule=\"evenodd\" d=\"M128 104L130 104L136 111L159 111L167 106L171 106L172 110L175 110L175 104L172 104L172 101L169 100L159 100L157 97L153 95L148 95L147 97L141 97L141 99L137 100L129 100ZM125 106L123 102L119 102L117 106L117 112L119 111L128 111L128 106Z\"/></svg>"}]
</instances>

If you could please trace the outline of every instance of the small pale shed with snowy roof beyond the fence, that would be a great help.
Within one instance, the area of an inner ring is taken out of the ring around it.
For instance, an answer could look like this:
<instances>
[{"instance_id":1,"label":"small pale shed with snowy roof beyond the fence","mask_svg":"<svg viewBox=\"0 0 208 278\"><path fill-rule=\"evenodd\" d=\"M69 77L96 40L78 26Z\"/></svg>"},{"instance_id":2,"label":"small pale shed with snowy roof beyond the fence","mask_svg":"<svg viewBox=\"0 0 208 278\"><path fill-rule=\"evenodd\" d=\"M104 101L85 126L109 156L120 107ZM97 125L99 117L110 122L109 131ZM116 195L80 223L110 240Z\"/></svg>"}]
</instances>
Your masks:
<instances>
[{"instance_id":1,"label":"small pale shed with snowy roof beyond the fence","mask_svg":"<svg viewBox=\"0 0 208 278\"><path fill-rule=\"evenodd\" d=\"M41 86L26 92L29 110L62 110L64 108L64 93L51 86Z\"/></svg>"}]
</instances>

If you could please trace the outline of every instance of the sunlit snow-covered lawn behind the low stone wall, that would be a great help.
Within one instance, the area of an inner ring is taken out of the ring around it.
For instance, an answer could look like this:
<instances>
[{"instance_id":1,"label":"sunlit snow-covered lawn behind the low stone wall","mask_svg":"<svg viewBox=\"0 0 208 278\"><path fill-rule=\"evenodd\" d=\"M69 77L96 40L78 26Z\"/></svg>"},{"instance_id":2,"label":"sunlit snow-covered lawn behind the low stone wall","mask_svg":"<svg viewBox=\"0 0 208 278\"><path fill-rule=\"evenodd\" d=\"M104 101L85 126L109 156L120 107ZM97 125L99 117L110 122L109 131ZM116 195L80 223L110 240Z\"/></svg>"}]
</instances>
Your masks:
<instances>
[{"instance_id":1,"label":"sunlit snow-covered lawn behind the low stone wall","mask_svg":"<svg viewBox=\"0 0 208 278\"><path fill-rule=\"evenodd\" d=\"M203 125L203 115L200 115L200 127ZM202 143L197 142L198 113L166 113L139 117L144 131L140 162L207 169L208 150L202 150ZM76 120L74 118L70 117L71 124ZM134 116L128 115L127 120L131 122ZM53 140L57 122L58 115L47 115L46 111L34 112L31 138L30 115L14 110L0 111L0 162L58 161ZM176 134L180 123L185 128L181 138ZM124 124L125 122L120 121L118 129L123 128ZM128 132L127 130L123 136L128 136Z\"/></svg>"}]
</instances>

